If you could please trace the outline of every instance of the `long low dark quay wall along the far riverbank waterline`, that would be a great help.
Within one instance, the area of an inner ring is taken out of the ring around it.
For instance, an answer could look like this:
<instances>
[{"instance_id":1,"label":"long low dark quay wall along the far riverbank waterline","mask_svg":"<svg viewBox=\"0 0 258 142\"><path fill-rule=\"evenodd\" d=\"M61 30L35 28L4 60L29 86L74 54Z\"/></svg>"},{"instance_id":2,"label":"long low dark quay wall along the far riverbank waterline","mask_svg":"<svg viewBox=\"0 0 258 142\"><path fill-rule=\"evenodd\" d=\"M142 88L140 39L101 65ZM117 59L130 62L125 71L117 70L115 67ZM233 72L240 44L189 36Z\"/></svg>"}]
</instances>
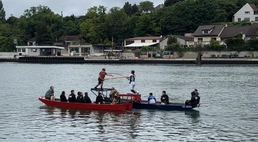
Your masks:
<instances>
[{"instance_id":1,"label":"long low dark quay wall along the far riverbank waterline","mask_svg":"<svg viewBox=\"0 0 258 142\"><path fill-rule=\"evenodd\" d=\"M149 58L149 59L84 59L83 57L27 57L0 58L0 62L28 63L196 63L195 58ZM255 63L258 58L202 58L202 63Z\"/></svg>"}]
</instances>

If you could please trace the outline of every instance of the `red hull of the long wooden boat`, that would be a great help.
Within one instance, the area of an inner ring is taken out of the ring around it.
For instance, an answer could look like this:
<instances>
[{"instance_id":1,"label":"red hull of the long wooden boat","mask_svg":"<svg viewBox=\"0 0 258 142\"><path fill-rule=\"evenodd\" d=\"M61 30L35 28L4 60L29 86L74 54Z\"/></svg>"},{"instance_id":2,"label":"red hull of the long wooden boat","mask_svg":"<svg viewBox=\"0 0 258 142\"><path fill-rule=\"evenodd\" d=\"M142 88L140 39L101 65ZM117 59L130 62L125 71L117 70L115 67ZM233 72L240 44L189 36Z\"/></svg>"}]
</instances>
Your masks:
<instances>
[{"instance_id":1,"label":"red hull of the long wooden boat","mask_svg":"<svg viewBox=\"0 0 258 142\"><path fill-rule=\"evenodd\" d=\"M95 104L95 103L77 103L77 102L61 102L53 101L39 97L39 100L48 106L79 108L79 109L95 109L95 110L132 110L132 103L122 104Z\"/></svg>"}]
</instances>

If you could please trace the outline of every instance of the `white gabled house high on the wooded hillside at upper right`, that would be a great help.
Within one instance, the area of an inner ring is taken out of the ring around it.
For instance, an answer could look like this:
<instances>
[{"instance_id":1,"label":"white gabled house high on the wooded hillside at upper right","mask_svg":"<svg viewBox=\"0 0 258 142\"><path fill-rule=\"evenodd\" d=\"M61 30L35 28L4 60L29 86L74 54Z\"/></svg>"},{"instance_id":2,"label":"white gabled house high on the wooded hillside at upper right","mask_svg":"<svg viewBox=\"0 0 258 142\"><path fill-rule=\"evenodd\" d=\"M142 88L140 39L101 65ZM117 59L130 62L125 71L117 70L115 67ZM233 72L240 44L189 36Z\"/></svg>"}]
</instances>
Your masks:
<instances>
[{"instance_id":1,"label":"white gabled house high on the wooded hillside at upper right","mask_svg":"<svg viewBox=\"0 0 258 142\"><path fill-rule=\"evenodd\" d=\"M255 4L246 3L233 16L233 21L254 21L258 22L258 8Z\"/></svg>"}]
</instances>

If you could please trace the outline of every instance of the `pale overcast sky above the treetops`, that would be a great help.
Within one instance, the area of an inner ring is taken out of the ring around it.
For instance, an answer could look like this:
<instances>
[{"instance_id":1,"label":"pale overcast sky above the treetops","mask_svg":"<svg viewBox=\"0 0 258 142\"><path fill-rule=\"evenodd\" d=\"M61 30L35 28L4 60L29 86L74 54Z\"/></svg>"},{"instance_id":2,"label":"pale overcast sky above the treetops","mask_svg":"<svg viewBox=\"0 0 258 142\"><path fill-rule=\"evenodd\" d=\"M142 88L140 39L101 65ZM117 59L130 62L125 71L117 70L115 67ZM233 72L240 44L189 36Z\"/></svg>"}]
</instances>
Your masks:
<instances>
[{"instance_id":1,"label":"pale overcast sky above the treetops","mask_svg":"<svg viewBox=\"0 0 258 142\"><path fill-rule=\"evenodd\" d=\"M25 9L32 6L46 5L49 6L55 13L61 14L63 11L66 15L85 15L87 9L92 6L103 5L111 8L114 6L122 7L124 2L137 3L145 0L2 0L6 11L6 17L13 14L19 17L24 13ZM164 3L164 0L150 0L153 1L154 6Z\"/></svg>"}]
</instances>

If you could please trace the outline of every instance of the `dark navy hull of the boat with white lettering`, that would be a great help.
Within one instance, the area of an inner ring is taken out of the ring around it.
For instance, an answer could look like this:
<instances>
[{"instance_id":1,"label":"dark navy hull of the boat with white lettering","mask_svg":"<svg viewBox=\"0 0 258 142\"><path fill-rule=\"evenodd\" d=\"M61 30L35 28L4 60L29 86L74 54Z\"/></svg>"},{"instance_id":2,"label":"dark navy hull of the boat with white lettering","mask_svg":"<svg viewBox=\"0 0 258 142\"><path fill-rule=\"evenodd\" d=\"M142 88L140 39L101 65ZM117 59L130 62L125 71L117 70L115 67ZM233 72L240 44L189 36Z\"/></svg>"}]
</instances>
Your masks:
<instances>
[{"instance_id":1,"label":"dark navy hull of the boat with white lettering","mask_svg":"<svg viewBox=\"0 0 258 142\"><path fill-rule=\"evenodd\" d=\"M189 110L196 105L180 105L180 104L148 104L148 103L133 103L135 109L159 109L159 110Z\"/></svg>"}]
</instances>

